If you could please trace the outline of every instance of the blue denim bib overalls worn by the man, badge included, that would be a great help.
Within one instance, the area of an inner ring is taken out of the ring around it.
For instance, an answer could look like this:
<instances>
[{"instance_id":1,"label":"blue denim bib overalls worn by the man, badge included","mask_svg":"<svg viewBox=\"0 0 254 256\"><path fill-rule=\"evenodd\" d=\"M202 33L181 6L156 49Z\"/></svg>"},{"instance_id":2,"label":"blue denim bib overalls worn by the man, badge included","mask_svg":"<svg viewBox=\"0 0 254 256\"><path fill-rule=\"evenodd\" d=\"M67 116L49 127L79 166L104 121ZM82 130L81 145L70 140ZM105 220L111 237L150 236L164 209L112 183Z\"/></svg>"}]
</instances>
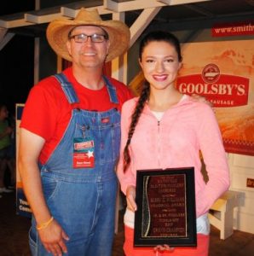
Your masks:
<instances>
[{"instance_id":1,"label":"blue denim bib overalls worn by the man, badge included","mask_svg":"<svg viewBox=\"0 0 254 256\"><path fill-rule=\"evenodd\" d=\"M75 106L78 98L72 84L62 73L55 77L68 102ZM107 78L104 80L110 101L118 104L115 87ZM119 143L120 113L116 108L96 112L72 107L72 118L61 142L47 163L40 166L49 210L70 238L64 255L111 255L117 193L114 167ZM89 167L83 167L86 164ZM39 241L35 226L32 218L32 255L51 255Z\"/></svg>"}]
</instances>

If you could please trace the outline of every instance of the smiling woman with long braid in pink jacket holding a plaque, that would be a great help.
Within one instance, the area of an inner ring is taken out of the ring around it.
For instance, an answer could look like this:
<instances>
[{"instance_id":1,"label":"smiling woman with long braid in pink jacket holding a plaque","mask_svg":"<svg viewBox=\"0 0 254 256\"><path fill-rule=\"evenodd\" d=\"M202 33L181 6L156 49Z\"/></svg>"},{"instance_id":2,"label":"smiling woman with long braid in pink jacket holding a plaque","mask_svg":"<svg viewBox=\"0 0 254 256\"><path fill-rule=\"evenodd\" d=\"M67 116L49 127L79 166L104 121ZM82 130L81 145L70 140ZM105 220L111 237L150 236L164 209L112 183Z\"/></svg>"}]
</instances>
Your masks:
<instances>
[{"instance_id":1,"label":"smiling woman with long braid in pink jacket holding a plaque","mask_svg":"<svg viewBox=\"0 0 254 256\"><path fill-rule=\"evenodd\" d=\"M193 166L197 247L163 247L163 255L208 255L211 205L228 189L228 163L216 117L204 102L176 90L182 67L178 39L169 32L150 32L141 40L139 62L147 82L141 96L124 103L118 178L126 195L124 215L127 256L156 255L153 248L133 247L136 170ZM200 151L209 181L201 171ZM161 248L161 247L160 247Z\"/></svg>"}]
</instances>

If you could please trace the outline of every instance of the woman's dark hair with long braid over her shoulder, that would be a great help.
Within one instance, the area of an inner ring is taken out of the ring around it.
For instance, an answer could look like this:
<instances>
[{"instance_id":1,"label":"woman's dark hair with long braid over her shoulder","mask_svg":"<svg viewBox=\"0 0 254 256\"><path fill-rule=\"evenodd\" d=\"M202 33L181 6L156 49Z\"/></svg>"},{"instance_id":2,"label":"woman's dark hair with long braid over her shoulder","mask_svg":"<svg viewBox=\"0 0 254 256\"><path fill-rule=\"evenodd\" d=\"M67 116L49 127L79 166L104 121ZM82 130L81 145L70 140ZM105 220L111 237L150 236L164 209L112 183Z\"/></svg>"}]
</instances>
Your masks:
<instances>
[{"instance_id":1,"label":"woman's dark hair with long braid over her shoulder","mask_svg":"<svg viewBox=\"0 0 254 256\"><path fill-rule=\"evenodd\" d=\"M176 49L176 53L178 56L178 61L182 61L182 55L181 55L181 46L178 38L176 38L173 34L170 32L164 32L164 31L155 31L155 32L149 32L147 35L142 38L140 48L139 48L139 59L141 60L141 55L144 51L144 48L147 46L147 44L151 42L167 42L174 46ZM124 147L124 172L126 172L128 166L130 166L130 152L129 152L129 146L131 138L134 134L136 125L138 123L138 120L141 116L141 112L143 108L145 107L145 103L149 99L150 96L150 84L146 81L143 84L143 88L141 90L141 96L139 97L138 102L136 103L136 108L134 112L131 115L131 122L130 122L130 128L128 131L128 139L126 142L126 145Z\"/></svg>"}]
</instances>

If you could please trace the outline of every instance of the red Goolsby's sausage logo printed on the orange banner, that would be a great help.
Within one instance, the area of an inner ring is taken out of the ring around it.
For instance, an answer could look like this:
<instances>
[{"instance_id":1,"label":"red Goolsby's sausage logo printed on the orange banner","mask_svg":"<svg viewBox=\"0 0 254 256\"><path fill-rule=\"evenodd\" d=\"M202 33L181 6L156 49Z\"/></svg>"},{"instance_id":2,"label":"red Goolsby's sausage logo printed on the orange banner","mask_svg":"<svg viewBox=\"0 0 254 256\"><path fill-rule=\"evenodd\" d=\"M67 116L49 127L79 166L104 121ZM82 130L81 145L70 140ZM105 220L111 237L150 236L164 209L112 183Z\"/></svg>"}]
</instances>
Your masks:
<instances>
[{"instance_id":1,"label":"red Goolsby's sausage logo printed on the orange banner","mask_svg":"<svg viewBox=\"0 0 254 256\"><path fill-rule=\"evenodd\" d=\"M184 94L199 94L212 102L214 107L235 107L248 104L248 78L222 74L214 64L207 64L200 73L177 79L177 88Z\"/></svg>"}]
</instances>

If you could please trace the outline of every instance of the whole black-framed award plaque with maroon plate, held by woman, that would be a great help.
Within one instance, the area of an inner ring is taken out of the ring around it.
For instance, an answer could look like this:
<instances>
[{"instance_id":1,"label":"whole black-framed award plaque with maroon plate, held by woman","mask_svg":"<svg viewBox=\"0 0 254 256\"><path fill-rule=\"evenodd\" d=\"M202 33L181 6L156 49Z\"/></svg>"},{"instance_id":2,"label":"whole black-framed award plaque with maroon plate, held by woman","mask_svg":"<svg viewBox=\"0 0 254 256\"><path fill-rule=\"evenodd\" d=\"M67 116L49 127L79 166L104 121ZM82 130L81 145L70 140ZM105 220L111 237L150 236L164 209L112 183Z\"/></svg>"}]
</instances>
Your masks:
<instances>
[{"instance_id":1,"label":"whole black-framed award plaque with maroon plate, held by woman","mask_svg":"<svg viewBox=\"0 0 254 256\"><path fill-rule=\"evenodd\" d=\"M135 247L196 247L194 169L136 173Z\"/></svg>"}]
</instances>

